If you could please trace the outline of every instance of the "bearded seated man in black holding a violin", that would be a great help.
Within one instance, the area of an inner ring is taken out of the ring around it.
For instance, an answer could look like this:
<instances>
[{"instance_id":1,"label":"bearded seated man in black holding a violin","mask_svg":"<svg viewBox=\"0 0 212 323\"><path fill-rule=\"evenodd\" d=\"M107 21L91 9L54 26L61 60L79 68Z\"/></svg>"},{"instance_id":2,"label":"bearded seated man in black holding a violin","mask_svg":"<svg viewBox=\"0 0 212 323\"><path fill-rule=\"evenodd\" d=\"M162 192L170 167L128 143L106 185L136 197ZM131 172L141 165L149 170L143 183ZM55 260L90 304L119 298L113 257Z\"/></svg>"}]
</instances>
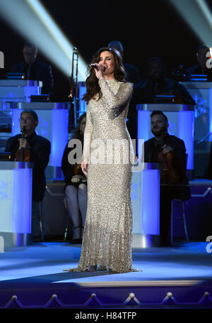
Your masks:
<instances>
[{"instance_id":1,"label":"bearded seated man in black holding a violin","mask_svg":"<svg viewBox=\"0 0 212 323\"><path fill-rule=\"evenodd\" d=\"M170 245L172 199L191 197L188 185L187 155L184 141L167 133L167 116L162 111L151 114L151 131L155 137L144 143L145 163L160 163L160 238L161 245Z\"/></svg>"}]
</instances>

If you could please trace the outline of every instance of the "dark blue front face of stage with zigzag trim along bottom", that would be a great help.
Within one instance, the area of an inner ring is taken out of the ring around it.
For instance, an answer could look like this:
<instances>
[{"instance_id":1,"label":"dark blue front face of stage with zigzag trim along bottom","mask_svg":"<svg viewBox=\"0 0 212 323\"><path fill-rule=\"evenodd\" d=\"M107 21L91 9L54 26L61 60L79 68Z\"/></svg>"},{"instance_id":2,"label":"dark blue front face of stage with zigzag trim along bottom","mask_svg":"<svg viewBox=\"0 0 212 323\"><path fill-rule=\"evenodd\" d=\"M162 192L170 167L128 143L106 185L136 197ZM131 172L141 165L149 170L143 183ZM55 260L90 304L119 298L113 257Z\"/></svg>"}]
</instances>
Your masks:
<instances>
[{"instance_id":1,"label":"dark blue front face of stage with zigzag trim along bottom","mask_svg":"<svg viewBox=\"0 0 212 323\"><path fill-rule=\"evenodd\" d=\"M180 281L179 281L180 283ZM57 285L57 286L56 286ZM212 295L212 285L205 283L204 285L197 286L157 286L154 282L151 282L151 286L135 287L124 286L119 288L79 288L76 284L55 284L52 285L40 285L39 288L31 286L28 288L25 285L21 285L20 288L8 288L2 289L0 292L0 308L4 308L5 305L11 300L13 295L16 295L18 299L16 302L11 302L10 307L69 307L69 308L127 308L127 307L207 307L212 308L212 302L208 298L204 298L204 302L198 304L201 298L204 296L204 292L209 292ZM172 299L165 297L167 293L172 292ZM136 300L141 304L138 304L135 300L127 301L129 295L134 293ZM92 298L90 302L90 296L95 294L96 297ZM57 300L51 300L52 295L57 295ZM49 305L47 306L47 303ZM124 302L126 304L124 305ZM86 303L89 303L86 305Z\"/></svg>"}]
</instances>

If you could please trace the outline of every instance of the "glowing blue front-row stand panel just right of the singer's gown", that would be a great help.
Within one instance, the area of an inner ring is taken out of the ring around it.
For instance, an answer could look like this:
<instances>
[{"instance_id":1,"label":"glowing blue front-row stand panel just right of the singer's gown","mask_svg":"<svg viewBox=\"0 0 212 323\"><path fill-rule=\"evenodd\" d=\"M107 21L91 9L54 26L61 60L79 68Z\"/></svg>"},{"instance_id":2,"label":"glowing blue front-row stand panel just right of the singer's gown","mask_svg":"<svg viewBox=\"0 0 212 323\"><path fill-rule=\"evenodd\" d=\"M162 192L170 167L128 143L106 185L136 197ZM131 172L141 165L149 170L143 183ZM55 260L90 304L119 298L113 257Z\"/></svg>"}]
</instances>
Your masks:
<instances>
[{"instance_id":1,"label":"glowing blue front-row stand panel just right of the singer's gown","mask_svg":"<svg viewBox=\"0 0 212 323\"><path fill-rule=\"evenodd\" d=\"M142 234L160 233L160 175L159 170L142 172ZM154 195L154 201L153 201Z\"/></svg>"}]
</instances>

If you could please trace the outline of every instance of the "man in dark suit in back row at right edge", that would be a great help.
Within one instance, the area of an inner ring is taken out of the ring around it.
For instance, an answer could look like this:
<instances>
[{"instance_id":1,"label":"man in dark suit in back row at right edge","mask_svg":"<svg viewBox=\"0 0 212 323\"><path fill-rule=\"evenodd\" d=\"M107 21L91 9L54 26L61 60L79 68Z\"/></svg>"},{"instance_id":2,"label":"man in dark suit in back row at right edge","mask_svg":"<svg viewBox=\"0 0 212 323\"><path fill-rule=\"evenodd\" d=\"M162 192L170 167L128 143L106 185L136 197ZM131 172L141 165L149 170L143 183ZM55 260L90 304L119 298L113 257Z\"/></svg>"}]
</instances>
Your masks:
<instances>
[{"instance_id":1,"label":"man in dark suit in back row at right edge","mask_svg":"<svg viewBox=\"0 0 212 323\"><path fill-rule=\"evenodd\" d=\"M206 45L200 45L196 51L197 64L186 70L186 75L206 75L207 81L212 81L212 66L209 62L210 48ZM208 61L208 64L207 64ZM208 68L211 66L211 68Z\"/></svg>"}]
</instances>

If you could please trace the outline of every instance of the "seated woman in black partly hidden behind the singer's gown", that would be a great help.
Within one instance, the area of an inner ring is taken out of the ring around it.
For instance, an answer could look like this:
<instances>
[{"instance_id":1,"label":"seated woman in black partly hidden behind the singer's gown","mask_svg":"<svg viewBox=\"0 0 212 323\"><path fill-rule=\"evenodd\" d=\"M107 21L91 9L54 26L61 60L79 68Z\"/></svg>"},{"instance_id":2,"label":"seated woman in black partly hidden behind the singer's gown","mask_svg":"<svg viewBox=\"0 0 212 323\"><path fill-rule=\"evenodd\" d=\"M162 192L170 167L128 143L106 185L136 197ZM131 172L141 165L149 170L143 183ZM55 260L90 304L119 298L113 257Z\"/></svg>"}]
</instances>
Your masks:
<instances>
[{"instance_id":1,"label":"seated woman in black partly hidden behind the singer's gown","mask_svg":"<svg viewBox=\"0 0 212 323\"><path fill-rule=\"evenodd\" d=\"M85 127L86 113L82 114L78 119L78 127L71 138L81 141L81 152L83 151ZM64 173L66 182L66 186L64 188L66 208L68 210L69 217L71 217L71 221L73 222L73 237L71 243L81 243L84 224L86 221L87 179L81 170L81 160L78 160L78 163L69 163L69 153L73 148L76 148L76 145L71 145L71 147L72 148L69 148L67 144L64 150L61 169Z\"/></svg>"}]
</instances>

